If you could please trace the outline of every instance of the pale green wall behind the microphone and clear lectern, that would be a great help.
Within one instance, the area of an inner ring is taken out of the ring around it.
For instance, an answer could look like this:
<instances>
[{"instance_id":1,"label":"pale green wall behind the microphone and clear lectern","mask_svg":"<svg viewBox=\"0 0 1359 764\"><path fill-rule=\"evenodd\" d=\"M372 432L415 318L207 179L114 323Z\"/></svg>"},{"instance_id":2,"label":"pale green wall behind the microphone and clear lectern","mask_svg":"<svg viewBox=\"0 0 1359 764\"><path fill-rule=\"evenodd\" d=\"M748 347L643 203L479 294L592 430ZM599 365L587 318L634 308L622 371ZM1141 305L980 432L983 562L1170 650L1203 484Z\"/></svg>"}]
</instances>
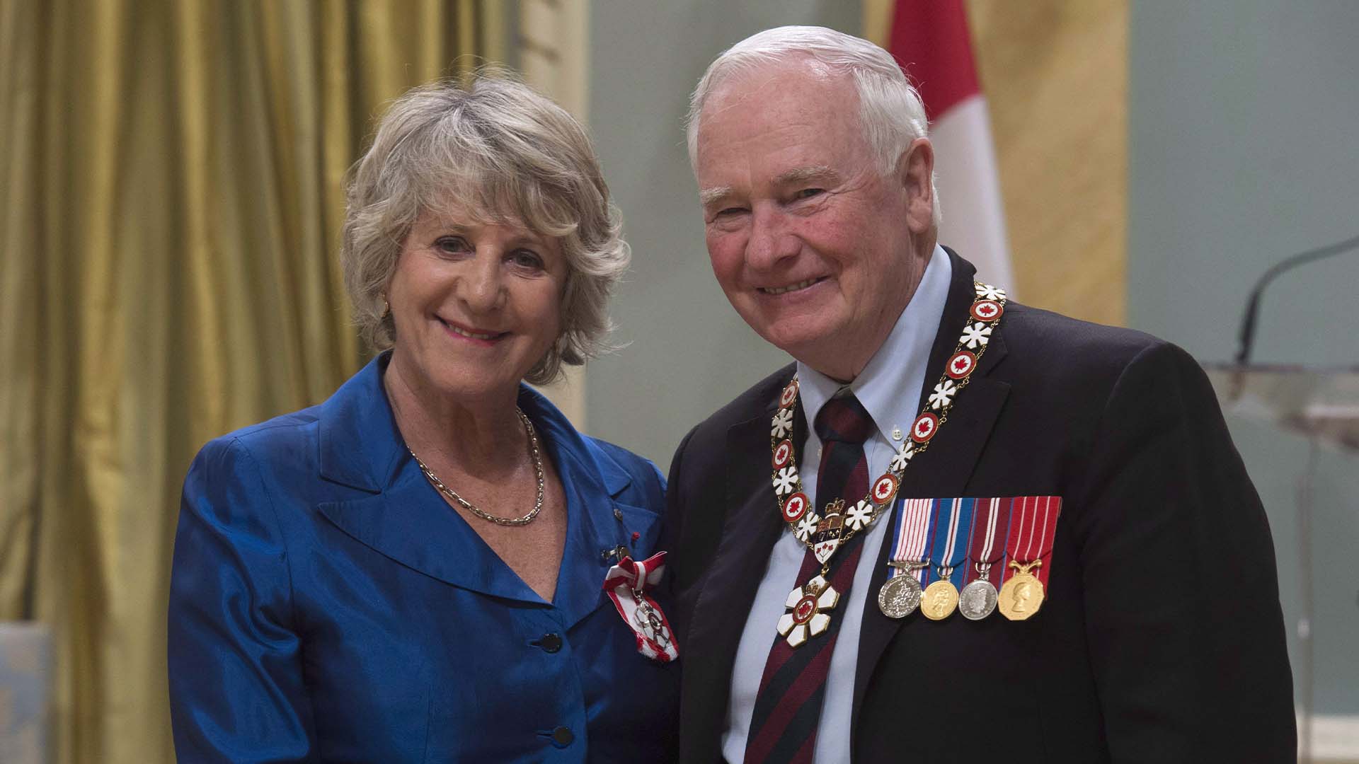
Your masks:
<instances>
[{"instance_id":1,"label":"pale green wall behind the microphone and clear lectern","mask_svg":"<svg viewBox=\"0 0 1359 764\"><path fill-rule=\"evenodd\" d=\"M1132 1L1132 326L1203 362L1230 359L1267 268L1359 234L1356 39L1359 3L1345 0ZM1356 288L1359 253L1284 275L1265 292L1254 359L1359 367ZM1295 498L1307 443L1260 421L1229 424L1269 511L1296 677ZM1316 710L1355 715L1359 454L1321 453L1310 540Z\"/></svg>"}]
</instances>

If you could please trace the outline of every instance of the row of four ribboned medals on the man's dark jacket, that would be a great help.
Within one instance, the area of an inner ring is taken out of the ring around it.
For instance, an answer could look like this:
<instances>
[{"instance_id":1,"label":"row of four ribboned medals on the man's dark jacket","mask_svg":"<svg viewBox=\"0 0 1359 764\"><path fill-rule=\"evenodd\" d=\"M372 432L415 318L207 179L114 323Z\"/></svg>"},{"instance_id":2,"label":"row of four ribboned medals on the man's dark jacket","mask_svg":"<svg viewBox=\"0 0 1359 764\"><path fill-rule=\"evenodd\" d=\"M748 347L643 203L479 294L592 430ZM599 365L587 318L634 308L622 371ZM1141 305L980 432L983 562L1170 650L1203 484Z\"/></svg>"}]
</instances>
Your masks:
<instances>
[{"instance_id":1,"label":"row of four ribboned medals on the man's dark jacket","mask_svg":"<svg viewBox=\"0 0 1359 764\"><path fill-rule=\"evenodd\" d=\"M1060 514L1060 496L900 500L878 608L889 619L919 609L935 621L955 610L973 621L996 609L1012 621L1033 616Z\"/></svg>"}]
</instances>

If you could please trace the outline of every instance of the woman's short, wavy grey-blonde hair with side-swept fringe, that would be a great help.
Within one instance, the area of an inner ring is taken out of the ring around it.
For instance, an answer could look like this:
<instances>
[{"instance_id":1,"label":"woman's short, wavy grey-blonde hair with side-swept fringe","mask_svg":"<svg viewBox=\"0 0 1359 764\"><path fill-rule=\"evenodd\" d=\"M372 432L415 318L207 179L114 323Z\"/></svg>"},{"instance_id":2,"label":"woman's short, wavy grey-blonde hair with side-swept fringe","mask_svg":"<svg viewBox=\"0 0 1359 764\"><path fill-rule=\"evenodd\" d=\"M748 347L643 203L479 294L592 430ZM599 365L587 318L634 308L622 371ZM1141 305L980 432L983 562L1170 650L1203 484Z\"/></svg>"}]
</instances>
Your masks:
<instances>
[{"instance_id":1,"label":"woman's short, wavy grey-blonde hair with side-swept fringe","mask_svg":"<svg viewBox=\"0 0 1359 764\"><path fill-rule=\"evenodd\" d=\"M393 102L351 170L347 201L340 262L374 349L395 343L383 292L410 227L448 204L469 211L469 223L523 224L561 246L561 334L526 381L552 382L561 364L610 349L609 295L631 261L618 209L584 128L506 72L435 82Z\"/></svg>"}]
</instances>

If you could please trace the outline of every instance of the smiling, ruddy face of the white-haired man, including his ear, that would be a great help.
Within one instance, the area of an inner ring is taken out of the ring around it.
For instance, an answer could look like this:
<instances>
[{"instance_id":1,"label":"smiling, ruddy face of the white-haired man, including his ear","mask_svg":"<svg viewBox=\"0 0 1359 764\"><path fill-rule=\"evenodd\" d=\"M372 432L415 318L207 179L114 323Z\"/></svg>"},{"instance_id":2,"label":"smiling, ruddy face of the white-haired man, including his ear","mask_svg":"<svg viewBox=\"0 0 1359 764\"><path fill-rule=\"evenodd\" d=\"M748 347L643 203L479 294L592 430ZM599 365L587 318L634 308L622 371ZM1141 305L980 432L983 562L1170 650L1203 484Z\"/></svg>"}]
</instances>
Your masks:
<instances>
[{"instance_id":1,"label":"smiling, ruddy face of the white-haired man, including his ear","mask_svg":"<svg viewBox=\"0 0 1359 764\"><path fill-rule=\"evenodd\" d=\"M852 379L911 300L934 247L930 143L882 175L848 75L790 60L733 75L699 121L708 254L761 337Z\"/></svg>"}]
</instances>

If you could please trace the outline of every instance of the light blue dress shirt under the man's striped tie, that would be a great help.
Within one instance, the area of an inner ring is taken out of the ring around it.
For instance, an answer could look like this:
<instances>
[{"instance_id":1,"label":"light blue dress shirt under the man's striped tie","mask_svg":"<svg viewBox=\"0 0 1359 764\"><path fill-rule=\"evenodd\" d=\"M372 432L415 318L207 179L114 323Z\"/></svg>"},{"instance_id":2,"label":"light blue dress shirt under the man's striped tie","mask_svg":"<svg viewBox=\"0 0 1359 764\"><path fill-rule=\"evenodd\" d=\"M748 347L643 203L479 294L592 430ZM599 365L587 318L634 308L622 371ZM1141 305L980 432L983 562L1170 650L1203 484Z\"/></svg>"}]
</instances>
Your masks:
<instances>
[{"instance_id":1,"label":"light blue dress shirt under the man's striped tie","mask_svg":"<svg viewBox=\"0 0 1359 764\"><path fill-rule=\"evenodd\" d=\"M849 383L849 389L877 426L877 432L864 443L870 481L887 470L887 464L901 447L902 439L909 438L911 424L920 413L917 411L920 389L924 385L930 348L939 332L939 319L943 315L951 277L953 265L947 253L943 247L935 246L920 285L897 318L897 325L864 366L863 372ZM822 404L830 400L841 385L802 362L798 362L798 379L802 413L809 423L807 442L803 443L798 470L803 491L815 498L821 439L810 423L815 421ZM863 621L863 608L870 594L868 580L872 578L872 567L886 532L887 521L879 517L863 541L863 555L859 557L849 595L843 600L843 609L832 616L844 619L844 623L840 625L840 636L826 677L826 696L821 707L814 752L817 764L849 761L849 707L859 658L859 624ZM735 763L745 757L756 691L760 688L769 647L777 636L775 624L784 613L788 593L798 585L798 571L806 553L806 546L792 533L786 532L769 555L769 567L760 580L746 628L741 633L741 646L737 648L731 701L727 706L727 730L722 734L722 754L727 761Z\"/></svg>"}]
</instances>

